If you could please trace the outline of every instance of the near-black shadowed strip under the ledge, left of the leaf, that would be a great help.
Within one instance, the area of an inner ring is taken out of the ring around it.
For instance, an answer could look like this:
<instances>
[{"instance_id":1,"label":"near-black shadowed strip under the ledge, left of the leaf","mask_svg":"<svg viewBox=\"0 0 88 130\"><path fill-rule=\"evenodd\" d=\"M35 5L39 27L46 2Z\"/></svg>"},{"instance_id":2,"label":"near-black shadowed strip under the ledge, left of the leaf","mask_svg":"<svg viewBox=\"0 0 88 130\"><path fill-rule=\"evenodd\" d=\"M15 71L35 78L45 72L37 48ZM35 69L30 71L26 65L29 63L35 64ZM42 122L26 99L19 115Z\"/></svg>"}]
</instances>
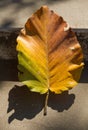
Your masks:
<instances>
[{"instance_id":1,"label":"near-black shadowed strip under the ledge, left of the leaf","mask_svg":"<svg viewBox=\"0 0 88 130\"><path fill-rule=\"evenodd\" d=\"M18 81L17 60L0 59L0 81Z\"/></svg>"}]
</instances>

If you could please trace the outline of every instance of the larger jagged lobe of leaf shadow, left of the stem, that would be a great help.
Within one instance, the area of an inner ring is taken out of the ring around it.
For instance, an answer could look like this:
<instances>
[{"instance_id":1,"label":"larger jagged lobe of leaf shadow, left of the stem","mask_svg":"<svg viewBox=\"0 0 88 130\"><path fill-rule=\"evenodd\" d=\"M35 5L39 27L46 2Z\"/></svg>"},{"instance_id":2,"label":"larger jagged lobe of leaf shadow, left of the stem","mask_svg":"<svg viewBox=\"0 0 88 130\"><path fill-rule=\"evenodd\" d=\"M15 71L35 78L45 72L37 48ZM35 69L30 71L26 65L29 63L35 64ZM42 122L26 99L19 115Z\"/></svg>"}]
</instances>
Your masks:
<instances>
[{"instance_id":1,"label":"larger jagged lobe of leaf shadow, left of the stem","mask_svg":"<svg viewBox=\"0 0 88 130\"><path fill-rule=\"evenodd\" d=\"M8 102L7 113L14 110L14 113L8 119L8 123L11 123L14 119L32 119L42 110L44 95L30 92L26 86L15 85L9 92Z\"/></svg>"}]
</instances>

